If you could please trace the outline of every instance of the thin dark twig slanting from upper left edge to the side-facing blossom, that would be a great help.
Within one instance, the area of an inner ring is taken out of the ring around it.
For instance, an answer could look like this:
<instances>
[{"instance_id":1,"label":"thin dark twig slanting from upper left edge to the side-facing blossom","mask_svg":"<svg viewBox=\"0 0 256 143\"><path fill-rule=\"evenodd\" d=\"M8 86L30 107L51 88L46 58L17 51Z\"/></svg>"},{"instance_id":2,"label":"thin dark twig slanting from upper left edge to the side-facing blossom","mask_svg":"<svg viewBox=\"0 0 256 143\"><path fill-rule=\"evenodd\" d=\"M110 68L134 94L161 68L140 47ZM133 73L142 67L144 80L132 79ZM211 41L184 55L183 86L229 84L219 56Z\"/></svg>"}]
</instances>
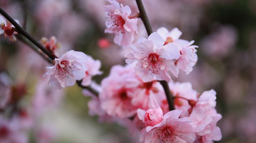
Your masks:
<instances>
[{"instance_id":1,"label":"thin dark twig slanting from upper left edge to the side-facing blossom","mask_svg":"<svg viewBox=\"0 0 256 143\"><path fill-rule=\"evenodd\" d=\"M35 46L37 46L40 50L42 50L46 55L48 55L49 58L52 60L55 59L55 57L47 51L44 46L37 41L33 36L31 36L27 31L25 31L9 14L7 14L1 7L0 7L0 13L9 21L12 23L12 25L16 28L19 34L22 34L24 37L29 39Z\"/></svg>"}]
</instances>

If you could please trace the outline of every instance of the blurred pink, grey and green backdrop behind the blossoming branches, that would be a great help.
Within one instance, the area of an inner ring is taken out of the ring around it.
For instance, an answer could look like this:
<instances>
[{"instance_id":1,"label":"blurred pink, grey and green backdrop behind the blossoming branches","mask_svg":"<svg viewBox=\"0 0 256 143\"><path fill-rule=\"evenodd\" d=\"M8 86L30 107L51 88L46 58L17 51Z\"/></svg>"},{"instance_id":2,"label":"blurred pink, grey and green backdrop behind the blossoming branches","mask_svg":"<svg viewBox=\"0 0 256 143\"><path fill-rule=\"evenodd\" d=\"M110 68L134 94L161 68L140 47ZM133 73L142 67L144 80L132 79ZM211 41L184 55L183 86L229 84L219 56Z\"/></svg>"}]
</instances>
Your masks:
<instances>
[{"instance_id":1,"label":"blurred pink, grey and green backdrop behind the blossoming branches","mask_svg":"<svg viewBox=\"0 0 256 143\"><path fill-rule=\"evenodd\" d=\"M117 0L138 11L135 0ZM189 75L174 81L190 81L199 93L217 92L220 143L256 142L256 1L255 0L143 0L153 30L179 28L182 39L195 40L198 63ZM59 54L74 49L102 62L97 83L112 65L124 65L127 52L105 34L106 0L0 0L0 6L38 40L56 36ZM26 16L24 16L26 15ZM26 18L25 18L26 17ZM139 37L147 37L141 19ZM2 39L3 35L1 35ZM0 42L0 92L11 92L18 115L29 129L20 135L39 143L135 142L117 124L99 123L88 115L87 101L77 85L55 91L42 75L50 66L22 42ZM3 99L0 99L3 100ZM0 114L3 114L0 110ZM1 115L4 116L4 115ZM21 139L20 139L21 140Z\"/></svg>"}]
</instances>

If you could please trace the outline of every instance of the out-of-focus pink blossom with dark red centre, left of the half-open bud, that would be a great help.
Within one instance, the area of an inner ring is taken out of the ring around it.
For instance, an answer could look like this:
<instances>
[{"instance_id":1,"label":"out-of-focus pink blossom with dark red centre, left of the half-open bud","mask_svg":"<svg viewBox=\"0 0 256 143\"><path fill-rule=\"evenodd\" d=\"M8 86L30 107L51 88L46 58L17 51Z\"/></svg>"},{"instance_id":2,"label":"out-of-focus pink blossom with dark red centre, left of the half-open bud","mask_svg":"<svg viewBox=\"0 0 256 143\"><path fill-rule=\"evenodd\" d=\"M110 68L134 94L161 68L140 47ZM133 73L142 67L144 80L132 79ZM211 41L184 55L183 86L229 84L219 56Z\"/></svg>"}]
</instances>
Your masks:
<instances>
[{"instance_id":1,"label":"out-of-focus pink blossom with dark red centre, left of the half-open bud","mask_svg":"<svg viewBox=\"0 0 256 143\"><path fill-rule=\"evenodd\" d=\"M131 100L138 85L132 67L113 66L110 75L101 81L99 99L102 109L109 115L120 118L134 116L139 105L132 105Z\"/></svg>"}]
</instances>

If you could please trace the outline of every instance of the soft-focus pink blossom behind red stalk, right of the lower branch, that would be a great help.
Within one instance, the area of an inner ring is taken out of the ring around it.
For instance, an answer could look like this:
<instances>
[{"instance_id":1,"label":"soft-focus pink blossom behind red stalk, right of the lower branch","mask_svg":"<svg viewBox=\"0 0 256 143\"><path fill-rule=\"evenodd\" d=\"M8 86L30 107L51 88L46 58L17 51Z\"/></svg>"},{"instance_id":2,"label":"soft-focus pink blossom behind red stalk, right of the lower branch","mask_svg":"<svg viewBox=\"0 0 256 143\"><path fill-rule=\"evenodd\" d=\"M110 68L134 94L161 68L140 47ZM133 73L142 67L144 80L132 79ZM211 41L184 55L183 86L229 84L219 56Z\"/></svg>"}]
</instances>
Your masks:
<instances>
[{"instance_id":1,"label":"soft-focus pink blossom behind red stalk, right of the lower branch","mask_svg":"<svg viewBox=\"0 0 256 143\"><path fill-rule=\"evenodd\" d=\"M190 82L169 82L169 88L174 96L175 109L183 110L181 117L189 116L190 102L197 101L197 91Z\"/></svg>"}]
</instances>

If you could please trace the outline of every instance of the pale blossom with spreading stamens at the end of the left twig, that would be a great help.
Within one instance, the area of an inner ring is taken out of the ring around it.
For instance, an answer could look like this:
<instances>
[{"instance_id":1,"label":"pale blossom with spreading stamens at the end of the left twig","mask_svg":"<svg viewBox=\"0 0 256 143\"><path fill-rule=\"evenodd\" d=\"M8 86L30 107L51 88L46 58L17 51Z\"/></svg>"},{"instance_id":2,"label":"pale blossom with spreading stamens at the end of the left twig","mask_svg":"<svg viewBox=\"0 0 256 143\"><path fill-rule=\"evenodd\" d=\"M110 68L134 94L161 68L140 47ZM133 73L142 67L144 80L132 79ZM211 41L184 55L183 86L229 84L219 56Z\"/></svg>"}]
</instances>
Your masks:
<instances>
[{"instance_id":1,"label":"pale blossom with spreading stamens at the end of the left twig","mask_svg":"<svg viewBox=\"0 0 256 143\"><path fill-rule=\"evenodd\" d=\"M73 86L76 80L81 80L87 70L84 64L87 56L83 52L70 50L61 55L59 59L54 60L54 66L46 67L50 70L43 75L50 75L48 84L54 89L62 89L67 86Z\"/></svg>"}]
</instances>

